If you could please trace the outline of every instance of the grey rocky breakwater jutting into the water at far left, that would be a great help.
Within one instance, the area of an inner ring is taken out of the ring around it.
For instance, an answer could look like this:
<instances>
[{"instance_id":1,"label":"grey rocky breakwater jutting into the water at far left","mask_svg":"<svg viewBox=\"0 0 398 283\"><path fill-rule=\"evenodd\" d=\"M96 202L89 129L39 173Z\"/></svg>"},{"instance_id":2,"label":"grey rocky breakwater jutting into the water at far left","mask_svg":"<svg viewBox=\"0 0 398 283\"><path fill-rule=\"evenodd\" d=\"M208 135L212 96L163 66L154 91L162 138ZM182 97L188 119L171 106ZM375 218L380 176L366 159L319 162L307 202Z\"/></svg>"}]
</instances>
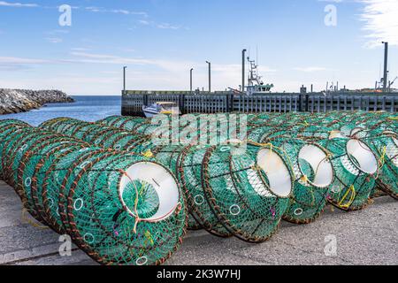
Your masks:
<instances>
[{"instance_id":1,"label":"grey rocky breakwater jutting into the water at far left","mask_svg":"<svg viewBox=\"0 0 398 283\"><path fill-rule=\"evenodd\" d=\"M27 112L47 103L73 103L74 99L60 90L0 88L0 115Z\"/></svg>"}]
</instances>

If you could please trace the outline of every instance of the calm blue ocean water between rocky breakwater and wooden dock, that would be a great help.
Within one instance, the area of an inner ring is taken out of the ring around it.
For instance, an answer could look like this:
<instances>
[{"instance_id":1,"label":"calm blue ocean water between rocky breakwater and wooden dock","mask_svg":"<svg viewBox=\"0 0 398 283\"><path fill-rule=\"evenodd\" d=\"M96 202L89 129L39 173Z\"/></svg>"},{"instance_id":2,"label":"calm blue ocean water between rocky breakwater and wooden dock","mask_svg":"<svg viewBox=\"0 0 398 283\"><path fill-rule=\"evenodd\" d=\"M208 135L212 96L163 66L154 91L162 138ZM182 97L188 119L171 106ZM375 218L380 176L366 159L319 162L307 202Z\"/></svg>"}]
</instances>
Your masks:
<instances>
[{"instance_id":1,"label":"calm blue ocean water between rocky breakwater and wooden dock","mask_svg":"<svg viewBox=\"0 0 398 283\"><path fill-rule=\"evenodd\" d=\"M25 113L0 115L0 119L19 119L31 126L57 117L94 122L112 115L120 115L120 96L72 96L75 103L51 103L39 110Z\"/></svg>"}]
</instances>

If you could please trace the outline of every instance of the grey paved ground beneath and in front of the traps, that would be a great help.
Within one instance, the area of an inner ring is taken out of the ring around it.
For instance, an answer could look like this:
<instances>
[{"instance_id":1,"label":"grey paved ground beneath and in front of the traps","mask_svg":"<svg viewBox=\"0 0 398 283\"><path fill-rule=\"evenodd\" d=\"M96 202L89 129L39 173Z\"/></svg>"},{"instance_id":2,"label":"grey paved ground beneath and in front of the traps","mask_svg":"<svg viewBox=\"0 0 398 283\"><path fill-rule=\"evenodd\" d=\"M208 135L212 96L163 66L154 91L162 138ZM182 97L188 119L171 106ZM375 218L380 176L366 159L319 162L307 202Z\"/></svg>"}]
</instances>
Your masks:
<instances>
[{"instance_id":1,"label":"grey paved ground beneath and in front of the traps","mask_svg":"<svg viewBox=\"0 0 398 283\"><path fill-rule=\"evenodd\" d=\"M327 209L309 226L282 223L270 241L248 244L188 233L166 264L398 264L398 203L382 197L363 211ZM337 256L325 256L325 237L337 240ZM24 224L21 204L0 181L0 264L95 264L80 250L59 256L58 235Z\"/></svg>"}]
</instances>

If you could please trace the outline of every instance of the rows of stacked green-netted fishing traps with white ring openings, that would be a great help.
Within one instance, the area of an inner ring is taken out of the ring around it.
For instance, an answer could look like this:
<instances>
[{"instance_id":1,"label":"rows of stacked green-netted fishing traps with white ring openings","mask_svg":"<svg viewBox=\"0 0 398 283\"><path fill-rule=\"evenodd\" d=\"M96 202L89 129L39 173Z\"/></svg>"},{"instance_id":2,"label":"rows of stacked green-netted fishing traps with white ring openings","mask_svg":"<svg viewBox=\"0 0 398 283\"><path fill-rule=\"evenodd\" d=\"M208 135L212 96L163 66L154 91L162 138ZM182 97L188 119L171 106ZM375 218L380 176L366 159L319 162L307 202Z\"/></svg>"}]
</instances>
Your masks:
<instances>
[{"instance_id":1,"label":"rows of stacked green-netted fishing traps with white ring openings","mask_svg":"<svg viewBox=\"0 0 398 283\"><path fill-rule=\"evenodd\" d=\"M282 219L308 224L328 204L351 211L375 195L398 198L395 115L202 118L3 120L0 177L37 221L100 264L163 264L187 228L259 243Z\"/></svg>"}]
</instances>

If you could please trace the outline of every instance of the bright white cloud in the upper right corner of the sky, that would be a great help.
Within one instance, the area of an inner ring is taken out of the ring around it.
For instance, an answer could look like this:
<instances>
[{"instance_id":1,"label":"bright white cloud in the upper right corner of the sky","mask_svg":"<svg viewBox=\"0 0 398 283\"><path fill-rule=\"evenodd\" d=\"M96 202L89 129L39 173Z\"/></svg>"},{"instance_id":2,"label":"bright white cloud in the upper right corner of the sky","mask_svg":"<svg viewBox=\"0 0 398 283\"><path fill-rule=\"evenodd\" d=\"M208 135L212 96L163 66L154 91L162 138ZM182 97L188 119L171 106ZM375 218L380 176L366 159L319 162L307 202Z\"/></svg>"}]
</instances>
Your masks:
<instances>
[{"instance_id":1,"label":"bright white cloud in the upper right corner of the sky","mask_svg":"<svg viewBox=\"0 0 398 283\"><path fill-rule=\"evenodd\" d=\"M398 1L360 0L365 6L361 19L368 39L366 46L379 46L381 42L398 45Z\"/></svg>"}]
</instances>

